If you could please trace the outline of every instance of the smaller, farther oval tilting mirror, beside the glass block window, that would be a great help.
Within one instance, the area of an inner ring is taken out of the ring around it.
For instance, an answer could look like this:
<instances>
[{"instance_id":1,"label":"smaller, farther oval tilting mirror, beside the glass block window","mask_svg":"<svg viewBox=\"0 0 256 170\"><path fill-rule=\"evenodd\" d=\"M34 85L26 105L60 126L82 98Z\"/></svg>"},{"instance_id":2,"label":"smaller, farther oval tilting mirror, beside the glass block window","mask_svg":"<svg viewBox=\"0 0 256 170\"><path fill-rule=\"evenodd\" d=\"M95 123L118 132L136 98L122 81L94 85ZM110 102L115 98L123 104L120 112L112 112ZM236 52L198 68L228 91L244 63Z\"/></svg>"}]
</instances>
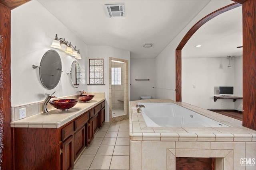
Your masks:
<instances>
[{"instance_id":1,"label":"smaller, farther oval tilting mirror, beside the glass block window","mask_svg":"<svg viewBox=\"0 0 256 170\"><path fill-rule=\"evenodd\" d=\"M74 86L74 88L78 88L79 84L81 83L81 68L77 61L73 61L70 68L70 79L71 83Z\"/></svg>"}]
</instances>

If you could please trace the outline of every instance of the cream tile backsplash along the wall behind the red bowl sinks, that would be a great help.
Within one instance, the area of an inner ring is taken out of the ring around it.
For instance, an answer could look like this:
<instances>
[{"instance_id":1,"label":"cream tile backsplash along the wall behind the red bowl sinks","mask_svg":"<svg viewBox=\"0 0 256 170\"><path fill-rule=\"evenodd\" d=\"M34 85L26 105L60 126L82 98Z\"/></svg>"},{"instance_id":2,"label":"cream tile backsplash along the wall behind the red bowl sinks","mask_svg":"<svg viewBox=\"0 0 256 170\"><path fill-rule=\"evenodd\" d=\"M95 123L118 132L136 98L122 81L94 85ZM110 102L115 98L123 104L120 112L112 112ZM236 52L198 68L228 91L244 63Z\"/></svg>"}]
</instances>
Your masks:
<instances>
[{"instance_id":1,"label":"cream tile backsplash along the wall behind the red bowl sinks","mask_svg":"<svg viewBox=\"0 0 256 170\"><path fill-rule=\"evenodd\" d=\"M92 102L96 102L98 100L105 99L105 93L89 93L88 92L86 94L94 94L95 96L88 103L80 103L80 102L78 102L78 104L76 104L75 107L79 106L79 104L88 105L88 104L90 104ZM61 97L61 98L58 98L58 99L78 99L76 97L77 95L78 94L72 95L72 96L64 96L64 97ZM52 100L56 100L56 99L52 98ZM28 118L28 117L30 117L32 115L37 115L39 113L43 113L43 111L42 111L43 102L44 101L39 101L39 102L34 102L34 103L29 103L29 104L22 104L22 105L18 105L18 106L12 106L12 122L19 120L19 109L21 109L21 108L26 108L26 118ZM49 111L49 113L51 113L52 110L54 110L54 109L55 108L53 106L51 106L50 104L47 104L47 110ZM59 110L59 111L61 111L61 110ZM67 113L68 112L69 111L67 111Z\"/></svg>"}]
</instances>

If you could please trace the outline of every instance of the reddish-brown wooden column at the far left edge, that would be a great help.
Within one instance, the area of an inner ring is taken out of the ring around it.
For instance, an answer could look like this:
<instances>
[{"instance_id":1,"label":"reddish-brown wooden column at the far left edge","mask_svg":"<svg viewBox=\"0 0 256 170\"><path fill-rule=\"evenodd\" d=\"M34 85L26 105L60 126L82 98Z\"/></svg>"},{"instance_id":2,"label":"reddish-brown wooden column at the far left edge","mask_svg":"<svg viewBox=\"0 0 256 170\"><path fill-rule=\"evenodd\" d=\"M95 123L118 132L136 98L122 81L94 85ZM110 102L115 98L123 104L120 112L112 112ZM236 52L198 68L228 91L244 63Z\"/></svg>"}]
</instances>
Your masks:
<instances>
[{"instance_id":1,"label":"reddish-brown wooden column at the far left edge","mask_svg":"<svg viewBox=\"0 0 256 170\"><path fill-rule=\"evenodd\" d=\"M11 10L0 4L0 167L12 169L11 133Z\"/></svg>"}]
</instances>

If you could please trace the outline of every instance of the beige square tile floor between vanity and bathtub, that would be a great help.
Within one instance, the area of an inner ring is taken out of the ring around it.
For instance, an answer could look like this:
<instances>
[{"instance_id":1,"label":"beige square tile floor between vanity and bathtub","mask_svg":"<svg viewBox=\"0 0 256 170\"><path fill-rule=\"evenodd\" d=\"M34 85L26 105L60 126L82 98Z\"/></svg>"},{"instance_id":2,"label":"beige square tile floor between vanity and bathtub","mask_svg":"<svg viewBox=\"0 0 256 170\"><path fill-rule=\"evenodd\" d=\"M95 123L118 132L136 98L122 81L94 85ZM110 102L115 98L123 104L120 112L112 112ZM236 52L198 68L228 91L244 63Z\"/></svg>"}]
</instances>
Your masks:
<instances>
[{"instance_id":1,"label":"beige square tile floor between vanity and bathtub","mask_svg":"<svg viewBox=\"0 0 256 170\"><path fill-rule=\"evenodd\" d=\"M129 120L105 122L73 170L129 170Z\"/></svg>"}]
</instances>

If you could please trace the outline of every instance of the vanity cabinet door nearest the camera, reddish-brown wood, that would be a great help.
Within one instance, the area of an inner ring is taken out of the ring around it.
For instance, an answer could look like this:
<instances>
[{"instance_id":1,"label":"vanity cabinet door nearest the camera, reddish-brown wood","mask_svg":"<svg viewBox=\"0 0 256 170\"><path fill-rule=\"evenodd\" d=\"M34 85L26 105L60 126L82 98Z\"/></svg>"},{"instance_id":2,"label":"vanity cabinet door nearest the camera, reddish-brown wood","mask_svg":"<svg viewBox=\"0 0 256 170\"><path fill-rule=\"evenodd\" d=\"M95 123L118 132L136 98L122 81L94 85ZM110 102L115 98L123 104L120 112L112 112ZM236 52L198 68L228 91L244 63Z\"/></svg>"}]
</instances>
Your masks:
<instances>
[{"instance_id":1,"label":"vanity cabinet door nearest the camera, reddish-brown wood","mask_svg":"<svg viewBox=\"0 0 256 170\"><path fill-rule=\"evenodd\" d=\"M74 168L74 136L70 136L62 143L62 170Z\"/></svg>"}]
</instances>

